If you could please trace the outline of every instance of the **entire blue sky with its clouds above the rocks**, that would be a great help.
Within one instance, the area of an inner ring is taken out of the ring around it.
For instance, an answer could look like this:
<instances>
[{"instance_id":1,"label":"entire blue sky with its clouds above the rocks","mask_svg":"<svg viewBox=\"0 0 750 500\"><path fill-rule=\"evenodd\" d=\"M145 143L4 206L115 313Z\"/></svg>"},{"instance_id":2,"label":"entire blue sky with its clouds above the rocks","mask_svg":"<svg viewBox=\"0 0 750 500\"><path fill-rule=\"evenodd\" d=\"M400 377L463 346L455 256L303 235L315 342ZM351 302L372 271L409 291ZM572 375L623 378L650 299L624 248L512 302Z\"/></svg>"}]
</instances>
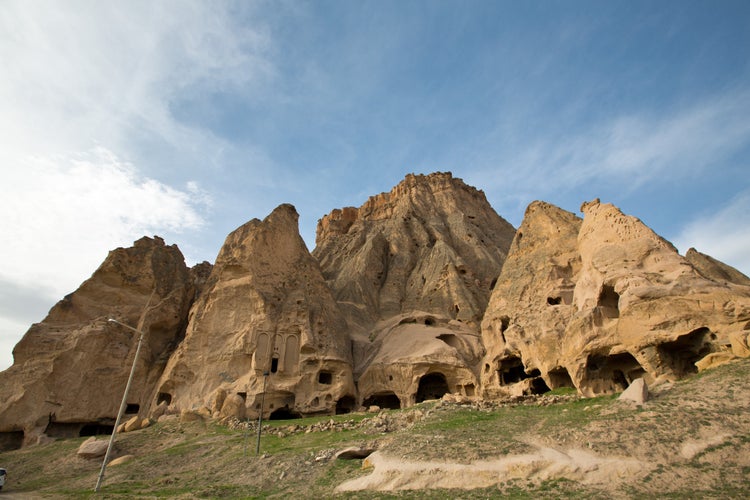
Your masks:
<instances>
[{"instance_id":1,"label":"entire blue sky with its clouds above the rocks","mask_svg":"<svg viewBox=\"0 0 750 500\"><path fill-rule=\"evenodd\" d=\"M0 369L107 251L213 261L452 171L518 226L599 197L750 274L747 1L59 1L0 9Z\"/></svg>"}]
</instances>

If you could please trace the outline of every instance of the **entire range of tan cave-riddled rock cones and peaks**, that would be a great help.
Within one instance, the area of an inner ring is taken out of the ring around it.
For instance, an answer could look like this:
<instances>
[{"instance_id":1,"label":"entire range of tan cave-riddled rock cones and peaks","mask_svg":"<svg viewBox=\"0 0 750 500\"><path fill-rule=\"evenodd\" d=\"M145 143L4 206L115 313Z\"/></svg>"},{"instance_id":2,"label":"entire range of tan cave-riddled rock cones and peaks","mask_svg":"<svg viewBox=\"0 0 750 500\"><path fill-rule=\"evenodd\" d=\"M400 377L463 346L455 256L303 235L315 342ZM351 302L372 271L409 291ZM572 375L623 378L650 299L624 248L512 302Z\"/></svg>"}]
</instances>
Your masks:
<instances>
[{"instance_id":1,"label":"entire range of tan cave-riddled rock cones and peaks","mask_svg":"<svg viewBox=\"0 0 750 500\"><path fill-rule=\"evenodd\" d=\"M618 392L750 356L750 279L598 200L518 231L450 173L318 223L281 205L188 269L143 238L33 325L0 373L0 449L130 421L291 418L575 387ZM697 363L697 365L696 365Z\"/></svg>"}]
</instances>

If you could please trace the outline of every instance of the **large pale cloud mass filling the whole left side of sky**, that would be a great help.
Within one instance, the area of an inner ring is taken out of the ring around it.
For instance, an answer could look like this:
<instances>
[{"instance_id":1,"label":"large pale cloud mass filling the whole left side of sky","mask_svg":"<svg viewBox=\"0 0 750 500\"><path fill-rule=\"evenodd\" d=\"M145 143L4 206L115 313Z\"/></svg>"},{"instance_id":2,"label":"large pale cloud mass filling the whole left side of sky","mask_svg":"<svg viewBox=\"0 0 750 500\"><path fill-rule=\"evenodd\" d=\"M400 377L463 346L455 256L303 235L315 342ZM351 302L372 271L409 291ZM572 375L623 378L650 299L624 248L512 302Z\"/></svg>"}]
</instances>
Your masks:
<instances>
[{"instance_id":1,"label":"large pale cloud mass filling the whole left side of sky","mask_svg":"<svg viewBox=\"0 0 750 500\"><path fill-rule=\"evenodd\" d=\"M36 295L48 309L116 246L203 225L211 197L199 175L226 151L239 153L182 121L180 106L273 79L267 31L246 16L254 8L3 2L3 296ZM24 319L42 319L39 310L0 311L2 352L28 328Z\"/></svg>"}]
</instances>

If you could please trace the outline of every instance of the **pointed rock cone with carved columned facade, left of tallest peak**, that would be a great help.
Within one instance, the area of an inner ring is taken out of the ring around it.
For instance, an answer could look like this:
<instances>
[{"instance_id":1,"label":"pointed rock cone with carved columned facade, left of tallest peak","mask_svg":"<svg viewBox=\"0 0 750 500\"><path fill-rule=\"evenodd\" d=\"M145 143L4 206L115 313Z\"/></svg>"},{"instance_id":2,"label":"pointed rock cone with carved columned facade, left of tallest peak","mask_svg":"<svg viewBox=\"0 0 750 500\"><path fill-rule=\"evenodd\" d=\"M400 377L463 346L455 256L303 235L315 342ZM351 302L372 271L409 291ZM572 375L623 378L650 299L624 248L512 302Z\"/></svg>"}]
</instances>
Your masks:
<instances>
[{"instance_id":1,"label":"pointed rock cone with carved columned facade, left of tallest peak","mask_svg":"<svg viewBox=\"0 0 750 500\"><path fill-rule=\"evenodd\" d=\"M155 402L237 418L262 398L265 418L354 407L346 324L297 219L281 205L227 237Z\"/></svg>"}]
</instances>

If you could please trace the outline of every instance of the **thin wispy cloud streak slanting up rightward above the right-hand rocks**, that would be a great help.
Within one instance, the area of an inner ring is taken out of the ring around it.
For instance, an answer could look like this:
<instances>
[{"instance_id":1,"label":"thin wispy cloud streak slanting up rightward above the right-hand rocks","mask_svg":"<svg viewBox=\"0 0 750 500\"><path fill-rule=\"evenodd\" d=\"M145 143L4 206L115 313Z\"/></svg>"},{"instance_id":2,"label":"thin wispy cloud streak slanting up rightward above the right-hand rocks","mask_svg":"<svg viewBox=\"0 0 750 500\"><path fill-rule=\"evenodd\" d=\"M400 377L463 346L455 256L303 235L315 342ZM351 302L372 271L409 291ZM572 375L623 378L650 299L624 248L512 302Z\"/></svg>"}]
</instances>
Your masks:
<instances>
[{"instance_id":1,"label":"thin wispy cloud streak slanting up rightward above the right-hand rocks","mask_svg":"<svg viewBox=\"0 0 750 500\"><path fill-rule=\"evenodd\" d=\"M587 183L636 190L665 178L704 173L750 143L750 92L729 92L672 109L633 112L579 130L518 143L481 158L473 177L544 196Z\"/></svg>"}]
</instances>

